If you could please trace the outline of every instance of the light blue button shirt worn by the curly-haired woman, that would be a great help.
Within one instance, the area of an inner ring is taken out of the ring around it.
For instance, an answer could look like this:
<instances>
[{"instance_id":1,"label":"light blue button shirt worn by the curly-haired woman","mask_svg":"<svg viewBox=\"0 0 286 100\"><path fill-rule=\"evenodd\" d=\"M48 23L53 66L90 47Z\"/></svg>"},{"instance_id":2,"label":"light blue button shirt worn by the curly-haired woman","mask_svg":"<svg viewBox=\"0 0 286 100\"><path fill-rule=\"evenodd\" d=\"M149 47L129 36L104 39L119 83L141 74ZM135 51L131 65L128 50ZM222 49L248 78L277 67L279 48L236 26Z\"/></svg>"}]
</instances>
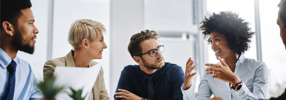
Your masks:
<instances>
[{"instance_id":1,"label":"light blue button shirt worn by the curly-haired woman","mask_svg":"<svg viewBox=\"0 0 286 100\"><path fill-rule=\"evenodd\" d=\"M217 64L221 64L220 62ZM258 100L266 99L268 70L267 66L262 61L245 58L242 54L235 64L236 74L242 81L241 89L234 91L229 86L228 82L212 78L213 75L202 74L202 80L198 86L198 92L195 95L194 87L185 90L182 84L181 90L184 100L206 100L213 94L221 97L224 100ZM205 69L210 68L207 66Z\"/></svg>"}]
</instances>

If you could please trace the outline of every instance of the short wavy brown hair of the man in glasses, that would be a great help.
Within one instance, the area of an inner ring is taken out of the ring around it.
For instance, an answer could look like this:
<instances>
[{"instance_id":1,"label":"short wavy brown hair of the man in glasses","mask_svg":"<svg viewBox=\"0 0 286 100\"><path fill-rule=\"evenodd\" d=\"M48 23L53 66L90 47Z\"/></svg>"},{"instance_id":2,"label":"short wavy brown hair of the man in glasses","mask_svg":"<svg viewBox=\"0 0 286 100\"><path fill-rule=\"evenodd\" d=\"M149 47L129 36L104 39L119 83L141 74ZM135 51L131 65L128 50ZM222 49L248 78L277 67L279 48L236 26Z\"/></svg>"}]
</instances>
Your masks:
<instances>
[{"instance_id":1,"label":"short wavy brown hair of the man in glasses","mask_svg":"<svg viewBox=\"0 0 286 100\"><path fill-rule=\"evenodd\" d=\"M153 30L151 31L145 30L145 32L141 31L141 33L134 34L131 37L130 42L128 44L128 51L132 58L142 53L142 48L140 46L140 43L150 38L154 38L157 40L158 38L160 38L160 36ZM142 58L142 55L140 57Z\"/></svg>"}]
</instances>

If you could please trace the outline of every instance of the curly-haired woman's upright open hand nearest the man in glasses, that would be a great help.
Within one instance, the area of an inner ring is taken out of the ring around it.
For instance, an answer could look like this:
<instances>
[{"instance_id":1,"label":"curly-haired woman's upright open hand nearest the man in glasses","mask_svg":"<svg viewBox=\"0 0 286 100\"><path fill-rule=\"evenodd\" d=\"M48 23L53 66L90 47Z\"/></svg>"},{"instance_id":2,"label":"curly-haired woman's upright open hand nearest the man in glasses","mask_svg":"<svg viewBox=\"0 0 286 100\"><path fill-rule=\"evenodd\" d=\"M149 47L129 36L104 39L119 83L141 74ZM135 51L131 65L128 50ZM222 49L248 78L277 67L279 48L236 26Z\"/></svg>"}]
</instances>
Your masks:
<instances>
[{"instance_id":1,"label":"curly-haired woman's upright open hand nearest the man in glasses","mask_svg":"<svg viewBox=\"0 0 286 100\"><path fill-rule=\"evenodd\" d=\"M196 72L193 73L193 69L195 68L195 65L193 64L194 61L190 57L186 63L185 81L184 81L185 90L191 87L193 76L196 74Z\"/></svg>"}]
</instances>

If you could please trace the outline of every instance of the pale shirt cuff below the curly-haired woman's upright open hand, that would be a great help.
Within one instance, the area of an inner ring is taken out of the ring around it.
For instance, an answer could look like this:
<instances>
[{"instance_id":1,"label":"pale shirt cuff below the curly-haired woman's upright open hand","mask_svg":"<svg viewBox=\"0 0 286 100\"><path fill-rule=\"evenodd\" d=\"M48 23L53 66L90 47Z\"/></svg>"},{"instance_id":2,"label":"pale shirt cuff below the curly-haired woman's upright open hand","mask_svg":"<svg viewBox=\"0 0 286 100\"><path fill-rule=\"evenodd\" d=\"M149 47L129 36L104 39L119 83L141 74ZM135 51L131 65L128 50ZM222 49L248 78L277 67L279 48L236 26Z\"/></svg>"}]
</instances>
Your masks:
<instances>
[{"instance_id":1,"label":"pale shirt cuff below the curly-haired woman's upright open hand","mask_svg":"<svg viewBox=\"0 0 286 100\"><path fill-rule=\"evenodd\" d=\"M195 97L193 85L191 85L189 89L185 90L185 84L183 83L181 86L181 91L183 93L184 100L195 100L196 97Z\"/></svg>"}]
</instances>

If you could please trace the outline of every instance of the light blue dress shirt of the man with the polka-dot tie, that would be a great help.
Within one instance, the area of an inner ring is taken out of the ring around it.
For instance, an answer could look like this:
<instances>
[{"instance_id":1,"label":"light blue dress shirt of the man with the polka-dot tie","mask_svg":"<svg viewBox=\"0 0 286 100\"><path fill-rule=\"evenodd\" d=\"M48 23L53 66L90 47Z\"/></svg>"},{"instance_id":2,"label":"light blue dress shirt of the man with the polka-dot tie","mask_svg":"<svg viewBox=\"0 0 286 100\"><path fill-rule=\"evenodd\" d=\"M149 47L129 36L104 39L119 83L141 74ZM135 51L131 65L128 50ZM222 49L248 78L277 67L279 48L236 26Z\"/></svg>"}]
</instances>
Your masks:
<instances>
[{"instance_id":1,"label":"light blue dress shirt of the man with the polka-dot tie","mask_svg":"<svg viewBox=\"0 0 286 100\"><path fill-rule=\"evenodd\" d=\"M0 99L2 100L8 91L9 72L7 66L11 63L11 57L1 49L0 51ZM37 78L35 77L30 64L19 57L15 57L15 90L13 100L33 100L42 98L42 93L37 87Z\"/></svg>"}]
</instances>

